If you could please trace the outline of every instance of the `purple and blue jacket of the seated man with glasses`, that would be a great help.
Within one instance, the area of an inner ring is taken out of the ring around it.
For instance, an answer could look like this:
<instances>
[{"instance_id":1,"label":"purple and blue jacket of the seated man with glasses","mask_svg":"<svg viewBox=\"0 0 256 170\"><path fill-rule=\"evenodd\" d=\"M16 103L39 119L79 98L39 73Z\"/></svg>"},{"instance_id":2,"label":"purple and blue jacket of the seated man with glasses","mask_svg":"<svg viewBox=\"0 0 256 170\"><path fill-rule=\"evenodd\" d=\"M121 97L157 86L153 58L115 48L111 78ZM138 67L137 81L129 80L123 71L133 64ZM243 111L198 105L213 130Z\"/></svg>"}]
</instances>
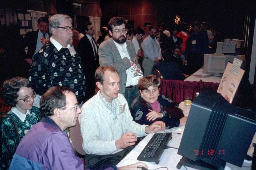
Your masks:
<instances>
[{"instance_id":1,"label":"purple and blue jacket of the seated man with glasses","mask_svg":"<svg viewBox=\"0 0 256 170\"><path fill-rule=\"evenodd\" d=\"M22 138L9 169L84 169L67 134L50 118L32 126ZM117 167L108 170L118 169Z\"/></svg>"}]
</instances>

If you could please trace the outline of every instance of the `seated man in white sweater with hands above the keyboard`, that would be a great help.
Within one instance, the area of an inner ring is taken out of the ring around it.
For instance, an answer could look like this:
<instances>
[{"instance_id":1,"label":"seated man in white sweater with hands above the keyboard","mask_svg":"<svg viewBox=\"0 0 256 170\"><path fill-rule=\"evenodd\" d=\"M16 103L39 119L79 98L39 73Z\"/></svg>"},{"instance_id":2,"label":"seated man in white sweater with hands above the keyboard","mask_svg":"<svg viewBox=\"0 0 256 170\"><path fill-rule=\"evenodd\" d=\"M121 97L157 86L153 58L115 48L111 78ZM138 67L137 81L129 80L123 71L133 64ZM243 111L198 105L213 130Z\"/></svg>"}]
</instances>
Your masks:
<instances>
[{"instance_id":1,"label":"seated man in white sweater with hands above the keyboard","mask_svg":"<svg viewBox=\"0 0 256 170\"><path fill-rule=\"evenodd\" d=\"M127 101L119 94L120 77L114 67L100 66L95 73L100 91L82 106L79 116L85 165L104 169L116 165L131 150L137 137L165 129L163 122L150 126L133 121Z\"/></svg>"}]
</instances>

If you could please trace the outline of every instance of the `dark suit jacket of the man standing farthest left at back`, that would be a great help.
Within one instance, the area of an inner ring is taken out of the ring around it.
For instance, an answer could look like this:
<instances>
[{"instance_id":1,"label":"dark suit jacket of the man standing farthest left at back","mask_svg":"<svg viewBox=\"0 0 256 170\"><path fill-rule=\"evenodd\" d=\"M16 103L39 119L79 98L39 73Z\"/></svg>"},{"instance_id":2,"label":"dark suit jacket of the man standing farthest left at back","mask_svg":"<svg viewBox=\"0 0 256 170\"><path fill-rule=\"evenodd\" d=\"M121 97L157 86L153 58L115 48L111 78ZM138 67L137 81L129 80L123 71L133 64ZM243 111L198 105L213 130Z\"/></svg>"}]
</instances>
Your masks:
<instances>
[{"instance_id":1,"label":"dark suit jacket of the man standing farthest left at back","mask_svg":"<svg viewBox=\"0 0 256 170\"><path fill-rule=\"evenodd\" d=\"M28 53L26 56L24 56L24 59L26 58L31 58L33 54L36 51L36 43L37 43L37 35L38 35L39 29L37 31L31 31L28 32L22 42L22 48L25 48L28 46ZM50 38L50 33L48 32L49 38Z\"/></svg>"}]
</instances>

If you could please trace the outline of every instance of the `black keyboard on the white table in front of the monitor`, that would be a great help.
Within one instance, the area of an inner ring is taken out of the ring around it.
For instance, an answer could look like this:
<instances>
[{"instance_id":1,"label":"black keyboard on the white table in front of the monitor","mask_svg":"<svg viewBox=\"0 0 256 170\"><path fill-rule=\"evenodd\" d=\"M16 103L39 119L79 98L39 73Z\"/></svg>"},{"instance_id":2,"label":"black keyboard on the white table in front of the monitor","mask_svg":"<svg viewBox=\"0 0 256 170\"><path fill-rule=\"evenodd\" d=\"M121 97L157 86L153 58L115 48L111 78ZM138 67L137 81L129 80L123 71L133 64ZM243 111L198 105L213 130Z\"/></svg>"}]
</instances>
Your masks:
<instances>
[{"instance_id":1,"label":"black keyboard on the white table in front of the monitor","mask_svg":"<svg viewBox=\"0 0 256 170\"><path fill-rule=\"evenodd\" d=\"M156 133L152 136L148 144L142 150L137 160L159 163L159 159L164 152L164 146L172 138L172 133Z\"/></svg>"}]
</instances>

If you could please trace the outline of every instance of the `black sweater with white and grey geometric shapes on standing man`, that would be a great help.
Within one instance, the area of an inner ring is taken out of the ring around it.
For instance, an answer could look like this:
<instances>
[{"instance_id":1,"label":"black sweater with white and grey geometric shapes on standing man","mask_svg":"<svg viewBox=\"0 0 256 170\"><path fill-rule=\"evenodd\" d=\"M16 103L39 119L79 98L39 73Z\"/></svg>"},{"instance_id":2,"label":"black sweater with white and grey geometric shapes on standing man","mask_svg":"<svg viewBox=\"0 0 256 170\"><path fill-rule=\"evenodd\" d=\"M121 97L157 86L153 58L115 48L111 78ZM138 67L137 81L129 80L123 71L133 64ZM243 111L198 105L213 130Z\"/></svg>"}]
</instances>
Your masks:
<instances>
[{"instance_id":1,"label":"black sweater with white and grey geometric shapes on standing man","mask_svg":"<svg viewBox=\"0 0 256 170\"><path fill-rule=\"evenodd\" d=\"M49 41L35 54L29 70L29 81L38 95L51 86L70 87L79 103L85 96L85 75L78 54L71 55L68 48L60 51Z\"/></svg>"}]
</instances>

